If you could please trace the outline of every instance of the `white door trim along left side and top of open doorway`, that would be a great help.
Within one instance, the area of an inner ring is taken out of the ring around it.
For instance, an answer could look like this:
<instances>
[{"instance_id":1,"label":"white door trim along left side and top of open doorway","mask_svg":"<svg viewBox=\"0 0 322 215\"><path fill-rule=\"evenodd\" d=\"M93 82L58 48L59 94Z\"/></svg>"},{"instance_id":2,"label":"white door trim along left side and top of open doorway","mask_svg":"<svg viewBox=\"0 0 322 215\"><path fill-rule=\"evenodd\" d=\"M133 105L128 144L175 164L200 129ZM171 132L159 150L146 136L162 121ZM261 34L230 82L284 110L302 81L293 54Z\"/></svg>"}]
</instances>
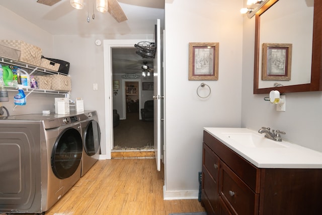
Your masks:
<instances>
[{"instance_id":1,"label":"white door trim along left side and top of open doorway","mask_svg":"<svg viewBox=\"0 0 322 215\"><path fill-rule=\"evenodd\" d=\"M106 155L102 156L111 159L111 150L113 148L113 89L112 89L112 48L115 47L133 47L140 41L152 42L148 39L136 40L104 40L104 99L105 99L105 136L106 136Z\"/></svg>"}]
</instances>

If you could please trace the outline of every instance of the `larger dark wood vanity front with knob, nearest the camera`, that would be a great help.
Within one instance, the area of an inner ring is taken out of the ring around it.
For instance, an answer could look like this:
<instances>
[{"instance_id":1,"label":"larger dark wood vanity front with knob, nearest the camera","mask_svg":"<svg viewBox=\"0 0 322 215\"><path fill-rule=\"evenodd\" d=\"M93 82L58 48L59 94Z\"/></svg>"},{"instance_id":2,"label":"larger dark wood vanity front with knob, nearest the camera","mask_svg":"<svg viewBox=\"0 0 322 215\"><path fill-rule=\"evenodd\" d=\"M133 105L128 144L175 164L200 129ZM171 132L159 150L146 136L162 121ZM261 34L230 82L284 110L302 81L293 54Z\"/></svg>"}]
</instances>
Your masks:
<instances>
[{"instance_id":1,"label":"larger dark wood vanity front with knob, nearest the camera","mask_svg":"<svg viewBox=\"0 0 322 215\"><path fill-rule=\"evenodd\" d=\"M253 192L223 162L219 167L219 195L232 214L258 214L259 194Z\"/></svg>"}]
</instances>

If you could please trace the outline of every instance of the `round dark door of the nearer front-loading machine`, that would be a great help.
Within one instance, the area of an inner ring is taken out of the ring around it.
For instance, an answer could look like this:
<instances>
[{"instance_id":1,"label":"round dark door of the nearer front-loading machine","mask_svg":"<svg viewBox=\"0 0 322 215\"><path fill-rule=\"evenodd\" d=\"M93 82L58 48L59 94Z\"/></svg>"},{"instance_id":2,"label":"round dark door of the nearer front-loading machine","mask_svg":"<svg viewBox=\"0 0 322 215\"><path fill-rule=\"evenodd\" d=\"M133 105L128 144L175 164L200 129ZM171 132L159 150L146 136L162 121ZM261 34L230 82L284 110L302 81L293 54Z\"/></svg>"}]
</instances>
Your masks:
<instances>
[{"instance_id":1,"label":"round dark door of the nearer front-loading machine","mask_svg":"<svg viewBox=\"0 0 322 215\"><path fill-rule=\"evenodd\" d=\"M75 128L66 128L56 139L51 167L59 179L70 177L81 163L83 152L82 136Z\"/></svg>"}]
</instances>

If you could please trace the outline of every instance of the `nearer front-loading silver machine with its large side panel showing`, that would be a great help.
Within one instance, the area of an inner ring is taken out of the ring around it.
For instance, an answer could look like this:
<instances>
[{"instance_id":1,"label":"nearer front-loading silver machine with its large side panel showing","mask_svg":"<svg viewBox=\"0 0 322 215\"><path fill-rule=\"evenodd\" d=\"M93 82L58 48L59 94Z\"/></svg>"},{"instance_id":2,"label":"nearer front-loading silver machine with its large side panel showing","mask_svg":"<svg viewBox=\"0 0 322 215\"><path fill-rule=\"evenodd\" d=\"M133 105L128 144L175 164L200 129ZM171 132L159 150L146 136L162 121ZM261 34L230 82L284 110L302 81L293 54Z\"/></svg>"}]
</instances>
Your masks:
<instances>
[{"instance_id":1,"label":"nearer front-loading silver machine with its large side panel showing","mask_svg":"<svg viewBox=\"0 0 322 215\"><path fill-rule=\"evenodd\" d=\"M0 212L43 213L81 175L78 116L0 117Z\"/></svg>"}]
</instances>

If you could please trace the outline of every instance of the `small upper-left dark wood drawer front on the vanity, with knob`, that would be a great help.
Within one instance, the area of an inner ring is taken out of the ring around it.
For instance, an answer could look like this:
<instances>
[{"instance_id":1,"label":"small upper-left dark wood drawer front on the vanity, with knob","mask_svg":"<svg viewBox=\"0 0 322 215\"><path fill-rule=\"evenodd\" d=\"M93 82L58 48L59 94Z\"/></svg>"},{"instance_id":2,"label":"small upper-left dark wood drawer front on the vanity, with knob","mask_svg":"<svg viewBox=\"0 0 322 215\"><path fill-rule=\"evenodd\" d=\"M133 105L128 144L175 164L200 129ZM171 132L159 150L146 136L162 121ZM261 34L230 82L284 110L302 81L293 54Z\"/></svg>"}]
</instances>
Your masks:
<instances>
[{"instance_id":1,"label":"small upper-left dark wood drawer front on the vanity, with knob","mask_svg":"<svg viewBox=\"0 0 322 215\"><path fill-rule=\"evenodd\" d=\"M214 181L218 183L219 158L205 144L203 144L202 149L202 165L208 170Z\"/></svg>"}]
</instances>

